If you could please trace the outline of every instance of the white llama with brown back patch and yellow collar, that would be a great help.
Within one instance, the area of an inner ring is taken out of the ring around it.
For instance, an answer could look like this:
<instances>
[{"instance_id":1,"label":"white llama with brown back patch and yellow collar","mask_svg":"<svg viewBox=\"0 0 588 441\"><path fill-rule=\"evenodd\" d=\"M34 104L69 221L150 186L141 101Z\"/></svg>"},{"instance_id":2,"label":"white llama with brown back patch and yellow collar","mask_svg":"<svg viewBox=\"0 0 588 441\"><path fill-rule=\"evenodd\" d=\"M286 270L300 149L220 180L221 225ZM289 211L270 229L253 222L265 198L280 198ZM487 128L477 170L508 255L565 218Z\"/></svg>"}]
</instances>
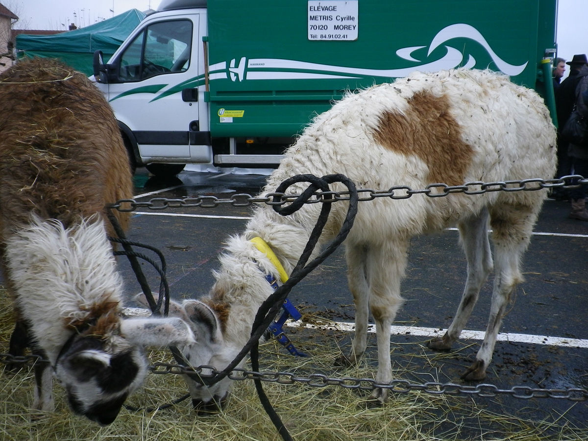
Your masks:
<instances>
[{"instance_id":1,"label":"white llama with brown back patch and yellow collar","mask_svg":"<svg viewBox=\"0 0 588 441\"><path fill-rule=\"evenodd\" d=\"M264 192L275 191L279 183L300 173L343 173L358 188L384 190L550 178L555 145L556 132L542 98L506 76L466 69L415 73L349 94L317 116L269 176ZM304 186L291 186L288 193L300 193ZM523 280L520 259L544 198L546 191L538 190L360 202L345 241L356 318L355 338L343 362L356 362L366 349L371 312L377 333L376 380L392 379L389 329L402 303L400 282L409 240L457 225L467 258L466 286L449 330L429 347L447 350L459 338L480 288L494 269L486 335L475 362L463 375L466 380L483 379L507 302ZM245 232L230 238L220 256L221 267L209 294L173 305L176 315L192 322L197 343L183 351L193 366L225 368L248 340L259 306L273 291L265 275L279 280L276 266L251 239L265 240L289 275L319 209L316 204L306 205L282 217L269 206L256 208ZM346 209L345 203L333 203L323 243L338 232ZM230 383L225 379L206 388L188 379L195 405L209 407L226 399ZM374 395L385 401L387 389Z\"/></svg>"}]
</instances>

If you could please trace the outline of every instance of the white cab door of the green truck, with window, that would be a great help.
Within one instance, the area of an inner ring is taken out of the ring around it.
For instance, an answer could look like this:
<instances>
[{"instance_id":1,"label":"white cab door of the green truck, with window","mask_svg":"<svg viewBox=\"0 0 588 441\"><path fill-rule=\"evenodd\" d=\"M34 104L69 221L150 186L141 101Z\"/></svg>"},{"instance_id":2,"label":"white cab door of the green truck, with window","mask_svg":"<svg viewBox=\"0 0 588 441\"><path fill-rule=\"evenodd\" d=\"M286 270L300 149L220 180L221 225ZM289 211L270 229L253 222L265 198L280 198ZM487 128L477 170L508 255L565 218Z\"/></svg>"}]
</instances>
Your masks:
<instances>
[{"instance_id":1,"label":"white cab door of the green truck, with window","mask_svg":"<svg viewBox=\"0 0 588 441\"><path fill-rule=\"evenodd\" d=\"M109 63L109 101L143 163L191 158L190 132L199 131L198 26L198 14L146 22Z\"/></svg>"}]
</instances>

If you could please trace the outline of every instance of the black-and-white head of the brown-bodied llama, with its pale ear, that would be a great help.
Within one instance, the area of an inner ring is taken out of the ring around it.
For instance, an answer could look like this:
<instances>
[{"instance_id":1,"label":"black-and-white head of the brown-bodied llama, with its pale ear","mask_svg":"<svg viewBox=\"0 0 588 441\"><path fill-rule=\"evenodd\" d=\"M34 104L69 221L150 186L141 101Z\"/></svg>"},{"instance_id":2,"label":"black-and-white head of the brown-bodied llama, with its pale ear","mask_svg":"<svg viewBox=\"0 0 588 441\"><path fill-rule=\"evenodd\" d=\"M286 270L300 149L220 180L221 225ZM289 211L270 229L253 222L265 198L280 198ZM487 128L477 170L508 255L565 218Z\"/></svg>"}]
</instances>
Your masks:
<instances>
[{"instance_id":1,"label":"black-and-white head of the brown-bodied llama, with its pale ear","mask_svg":"<svg viewBox=\"0 0 588 441\"><path fill-rule=\"evenodd\" d=\"M188 345L193 334L179 318L121 320L120 333L75 333L55 362L71 409L101 425L112 423L147 374L144 346Z\"/></svg>"}]
</instances>

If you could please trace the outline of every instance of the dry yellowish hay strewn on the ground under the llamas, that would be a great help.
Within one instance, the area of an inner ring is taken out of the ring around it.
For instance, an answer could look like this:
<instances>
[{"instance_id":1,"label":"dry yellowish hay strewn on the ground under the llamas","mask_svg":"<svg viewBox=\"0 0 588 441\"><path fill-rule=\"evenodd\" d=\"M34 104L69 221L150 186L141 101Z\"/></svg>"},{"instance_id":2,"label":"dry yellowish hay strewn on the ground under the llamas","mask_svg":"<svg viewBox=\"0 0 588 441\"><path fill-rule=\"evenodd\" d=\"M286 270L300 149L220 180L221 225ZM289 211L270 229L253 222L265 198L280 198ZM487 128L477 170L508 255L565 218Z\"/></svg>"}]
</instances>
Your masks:
<instances>
[{"instance_id":1,"label":"dry yellowish hay strewn on the ground under the llamas","mask_svg":"<svg viewBox=\"0 0 588 441\"><path fill-rule=\"evenodd\" d=\"M6 352L12 330L8 307L0 310L0 352ZM325 335L294 339L299 349L310 358L295 358L275 342L265 343L260 360L263 370L292 372L297 376L324 373L329 377L372 378L373 368L362 363L359 368L335 370L333 348ZM150 353L152 363L173 363L161 350ZM407 371L397 369L396 377L407 378ZM219 415L199 417L185 400L168 409L123 409L112 425L100 427L72 415L64 393L55 384L56 411L34 415L32 401L33 375L28 367L12 373L3 370L0 384L0 439L11 440L276 440L278 432L260 405L251 380L236 384L229 405ZM430 395L423 392L395 393L383 408L365 406L366 395L358 390L338 386L312 387L302 383L279 385L264 382L270 402L295 440L584 440L588 433L575 429L570 422L547 422L496 415L484 409L472 397ZM141 409L161 406L185 395L181 376L151 374L128 404ZM528 403L522 402L523 408ZM580 403L582 404L582 403ZM523 409L524 410L524 409ZM523 412L524 414L524 412ZM522 414L522 415L523 415ZM563 419L564 416L562 416Z\"/></svg>"}]
</instances>

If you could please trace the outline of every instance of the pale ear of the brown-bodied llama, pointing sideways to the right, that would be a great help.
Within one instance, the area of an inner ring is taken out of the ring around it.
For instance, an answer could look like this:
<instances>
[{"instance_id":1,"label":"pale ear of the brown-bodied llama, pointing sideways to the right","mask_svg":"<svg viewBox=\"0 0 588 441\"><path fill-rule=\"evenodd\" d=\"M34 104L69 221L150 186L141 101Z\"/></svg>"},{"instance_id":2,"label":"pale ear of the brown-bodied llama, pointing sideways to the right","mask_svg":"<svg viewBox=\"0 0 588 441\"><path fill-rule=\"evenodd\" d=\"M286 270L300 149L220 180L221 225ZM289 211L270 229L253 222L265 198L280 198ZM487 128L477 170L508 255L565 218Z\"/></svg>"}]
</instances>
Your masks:
<instances>
[{"instance_id":1,"label":"pale ear of the brown-bodied llama, pointing sideways to the right","mask_svg":"<svg viewBox=\"0 0 588 441\"><path fill-rule=\"evenodd\" d=\"M177 317L122 320L121 333L141 346L188 345L195 342L188 323Z\"/></svg>"}]
</instances>

